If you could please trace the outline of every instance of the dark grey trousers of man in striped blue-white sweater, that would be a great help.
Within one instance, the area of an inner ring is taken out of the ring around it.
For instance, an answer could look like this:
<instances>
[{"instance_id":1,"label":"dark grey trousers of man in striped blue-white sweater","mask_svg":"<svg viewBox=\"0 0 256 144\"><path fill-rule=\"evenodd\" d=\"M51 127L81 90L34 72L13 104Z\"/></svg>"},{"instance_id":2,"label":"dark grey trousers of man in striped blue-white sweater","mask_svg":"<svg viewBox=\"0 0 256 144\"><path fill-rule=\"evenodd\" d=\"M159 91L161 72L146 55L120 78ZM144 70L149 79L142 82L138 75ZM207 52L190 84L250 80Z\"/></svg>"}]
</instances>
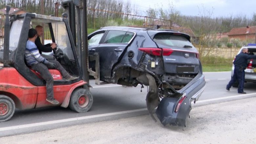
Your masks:
<instances>
[{"instance_id":1,"label":"dark grey trousers of man in striped blue-white sweater","mask_svg":"<svg viewBox=\"0 0 256 144\"><path fill-rule=\"evenodd\" d=\"M61 66L61 64L56 60L49 60L56 65L55 68L47 67L43 63L32 64L32 69L40 73L40 76L46 81L46 93L47 99L53 99L53 77L49 72L49 69L57 69L60 71L61 75L65 78L68 77L68 72Z\"/></svg>"}]
</instances>

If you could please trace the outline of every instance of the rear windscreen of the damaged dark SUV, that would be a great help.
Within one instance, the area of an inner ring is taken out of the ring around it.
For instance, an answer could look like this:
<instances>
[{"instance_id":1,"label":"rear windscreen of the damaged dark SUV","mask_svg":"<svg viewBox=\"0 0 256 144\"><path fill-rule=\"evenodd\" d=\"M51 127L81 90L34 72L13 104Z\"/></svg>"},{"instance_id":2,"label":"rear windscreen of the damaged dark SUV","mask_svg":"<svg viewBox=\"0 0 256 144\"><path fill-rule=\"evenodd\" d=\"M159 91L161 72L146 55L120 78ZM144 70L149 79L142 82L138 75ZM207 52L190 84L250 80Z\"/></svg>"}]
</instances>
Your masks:
<instances>
[{"instance_id":1,"label":"rear windscreen of the damaged dark SUV","mask_svg":"<svg viewBox=\"0 0 256 144\"><path fill-rule=\"evenodd\" d=\"M169 46L169 47L193 47L193 45L183 36L173 35L169 33L160 33L154 36L153 41L157 44Z\"/></svg>"}]
</instances>

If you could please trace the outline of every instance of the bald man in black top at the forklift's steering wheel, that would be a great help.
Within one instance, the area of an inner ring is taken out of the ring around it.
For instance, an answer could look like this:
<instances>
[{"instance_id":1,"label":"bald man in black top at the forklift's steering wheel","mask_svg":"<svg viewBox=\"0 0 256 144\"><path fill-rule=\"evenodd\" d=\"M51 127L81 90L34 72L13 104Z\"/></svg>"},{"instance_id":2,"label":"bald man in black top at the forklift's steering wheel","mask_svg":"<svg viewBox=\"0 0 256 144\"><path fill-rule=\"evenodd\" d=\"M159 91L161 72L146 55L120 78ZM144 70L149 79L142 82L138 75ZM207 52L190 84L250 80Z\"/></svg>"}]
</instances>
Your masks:
<instances>
[{"instance_id":1,"label":"bald man in black top at the forklift's steering wheel","mask_svg":"<svg viewBox=\"0 0 256 144\"><path fill-rule=\"evenodd\" d=\"M53 49L57 48L56 43L50 43L50 44L46 44L46 45L42 45L41 40L39 37L41 37L44 33L44 28L40 25L37 25L35 27L36 31L37 31L37 38L35 40L35 45L38 48L38 51L40 54L42 54L42 52L52 52Z\"/></svg>"}]
</instances>

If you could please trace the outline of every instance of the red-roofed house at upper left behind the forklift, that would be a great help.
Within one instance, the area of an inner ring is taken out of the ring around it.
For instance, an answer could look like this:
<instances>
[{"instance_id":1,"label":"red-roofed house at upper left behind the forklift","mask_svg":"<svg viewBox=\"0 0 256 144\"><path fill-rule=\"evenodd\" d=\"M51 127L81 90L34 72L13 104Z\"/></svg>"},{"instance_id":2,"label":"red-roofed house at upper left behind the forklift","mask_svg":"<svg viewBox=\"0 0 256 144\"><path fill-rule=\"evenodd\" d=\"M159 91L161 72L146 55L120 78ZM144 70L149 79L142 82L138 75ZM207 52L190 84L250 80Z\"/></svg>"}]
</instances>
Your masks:
<instances>
[{"instance_id":1,"label":"red-roofed house at upper left behind the forklift","mask_svg":"<svg viewBox=\"0 0 256 144\"><path fill-rule=\"evenodd\" d=\"M5 8L0 9L0 37L4 36L4 18L5 18ZM25 10L23 9L19 9L19 8L11 8L9 11L10 15L13 14L22 14L22 13L26 13Z\"/></svg>"}]
</instances>

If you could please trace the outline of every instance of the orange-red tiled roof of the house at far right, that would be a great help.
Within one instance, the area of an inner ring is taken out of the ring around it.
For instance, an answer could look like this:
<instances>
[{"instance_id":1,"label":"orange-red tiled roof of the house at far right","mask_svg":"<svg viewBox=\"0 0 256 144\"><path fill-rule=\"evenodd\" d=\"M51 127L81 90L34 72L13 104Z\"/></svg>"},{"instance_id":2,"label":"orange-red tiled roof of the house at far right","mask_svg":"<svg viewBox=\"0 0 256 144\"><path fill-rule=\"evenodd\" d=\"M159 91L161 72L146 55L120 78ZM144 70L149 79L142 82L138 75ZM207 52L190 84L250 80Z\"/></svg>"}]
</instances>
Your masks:
<instances>
[{"instance_id":1,"label":"orange-red tiled roof of the house at far right","mask_svg":"<svg viewBox=\"0 0 256 144\"><path fill-rule=\"evenodd\" d=\"M255 34L256 33L256 26L252 26L249 28L233 28L231 31L228 32L227 35L241 35L241 34Z\"/></svg>"}]
</instances>

